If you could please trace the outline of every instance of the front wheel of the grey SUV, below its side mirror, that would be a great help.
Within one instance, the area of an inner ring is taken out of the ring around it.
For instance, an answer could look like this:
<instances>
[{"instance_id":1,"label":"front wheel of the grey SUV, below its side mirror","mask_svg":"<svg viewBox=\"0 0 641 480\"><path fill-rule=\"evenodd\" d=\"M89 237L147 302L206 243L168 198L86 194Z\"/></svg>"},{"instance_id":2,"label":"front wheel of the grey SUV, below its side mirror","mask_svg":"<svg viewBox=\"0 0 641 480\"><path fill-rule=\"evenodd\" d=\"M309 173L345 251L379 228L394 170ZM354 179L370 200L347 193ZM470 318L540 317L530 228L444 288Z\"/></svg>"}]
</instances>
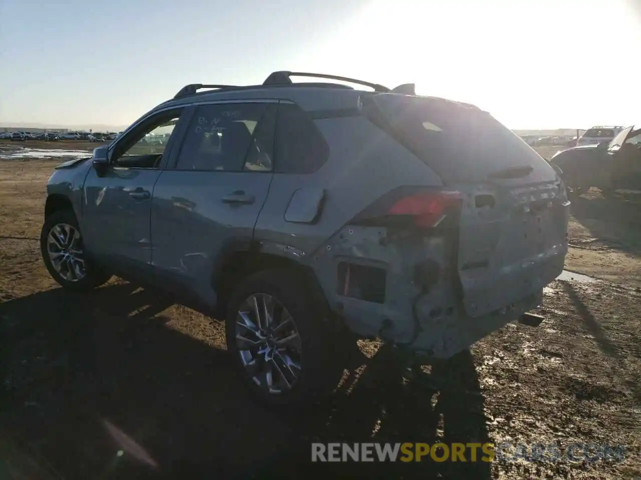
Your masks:
<instances>
[{"instance_id":1,"label":"front wheel of the grey SUV, below its side mirror","mask_svg":"<svg viewBox=\"0 0 641 480\"><path fill-rule=\"evenodd\" d=\"M87 291L112 277L87 258L78 220L70 209L47 216L40 232L40 253L49 275L67 289Z\"/></svg>"}]
</instances>

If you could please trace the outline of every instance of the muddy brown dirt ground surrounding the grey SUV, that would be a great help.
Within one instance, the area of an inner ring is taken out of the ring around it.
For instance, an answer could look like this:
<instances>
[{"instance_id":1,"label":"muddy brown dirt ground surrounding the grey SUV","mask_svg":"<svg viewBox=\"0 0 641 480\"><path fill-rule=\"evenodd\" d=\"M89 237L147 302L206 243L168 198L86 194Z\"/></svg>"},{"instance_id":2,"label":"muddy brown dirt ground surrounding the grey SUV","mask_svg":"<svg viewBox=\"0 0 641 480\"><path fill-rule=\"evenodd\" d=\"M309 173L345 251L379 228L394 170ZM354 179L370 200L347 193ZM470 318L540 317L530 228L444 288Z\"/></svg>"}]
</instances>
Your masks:
<instances>
[{"instance_id":1,"label":"muddy brown dirt ground surrounding the grey SUV","mask_svg":"<svg viewBox=\"0 0 641 480\"><path fill-rule=\"evenodd\" d=\"M121 280L84 296L54 284L38 235L57 163L0 161L1 479L641 477L634 199L590 191L573 202L567 269L604 280L551 284L537 328L509 324L412 369L362 342L331 401L274 413L229 369L221 324ZM626 450L622 460L511 461L506 447L491 463L312 464L310 442Z\"/></svg>"}]
</instances>

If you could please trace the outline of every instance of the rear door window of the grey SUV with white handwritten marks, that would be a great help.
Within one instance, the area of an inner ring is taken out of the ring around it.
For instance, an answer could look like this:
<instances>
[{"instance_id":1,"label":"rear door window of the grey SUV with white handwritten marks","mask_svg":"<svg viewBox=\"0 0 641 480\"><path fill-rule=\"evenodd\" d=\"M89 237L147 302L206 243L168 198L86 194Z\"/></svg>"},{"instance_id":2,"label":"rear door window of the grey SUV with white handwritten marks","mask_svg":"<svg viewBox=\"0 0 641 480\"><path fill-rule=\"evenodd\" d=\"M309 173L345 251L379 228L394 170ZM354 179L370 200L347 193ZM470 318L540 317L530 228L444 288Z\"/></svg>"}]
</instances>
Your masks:
<instances>
[{"instance_id":1,"label":"rear door window of the grey SUV with white handwritten marks","mask_svg":"<svg viewBox=\"0 0 641 480\"><path fill-rule=\"evenodd\" d=\"M176 170L271 172L275 113L266 103L199 106Z\"/></svg>"}]
</instances>

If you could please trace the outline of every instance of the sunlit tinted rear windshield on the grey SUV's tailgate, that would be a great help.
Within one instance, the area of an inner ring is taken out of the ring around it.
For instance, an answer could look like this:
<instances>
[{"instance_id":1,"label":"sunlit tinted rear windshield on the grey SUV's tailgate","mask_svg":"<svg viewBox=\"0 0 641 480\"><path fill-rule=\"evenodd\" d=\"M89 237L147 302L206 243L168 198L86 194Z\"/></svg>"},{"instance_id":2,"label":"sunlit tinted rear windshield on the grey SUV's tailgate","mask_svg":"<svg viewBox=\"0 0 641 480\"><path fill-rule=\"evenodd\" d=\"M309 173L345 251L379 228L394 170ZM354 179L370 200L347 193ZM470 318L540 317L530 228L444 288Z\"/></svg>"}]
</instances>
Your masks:
<instances>
[{"instance_id":1,"label":"sunlit tinted rear windshield on the grey SUV's tailgate","mask_svg":"<svg viewBox=\"0 0 641 480\"><path fill-rule=\"evenodd\" d=\"M373 111L380 116L372 119L374 123L386 122L397 140L445 182L487 180L527 166L545 172L542 157L487 112L441 99L397 95L373 99ZM366 111L372 112L367 103Z\"/></svg>"}]
</instances>

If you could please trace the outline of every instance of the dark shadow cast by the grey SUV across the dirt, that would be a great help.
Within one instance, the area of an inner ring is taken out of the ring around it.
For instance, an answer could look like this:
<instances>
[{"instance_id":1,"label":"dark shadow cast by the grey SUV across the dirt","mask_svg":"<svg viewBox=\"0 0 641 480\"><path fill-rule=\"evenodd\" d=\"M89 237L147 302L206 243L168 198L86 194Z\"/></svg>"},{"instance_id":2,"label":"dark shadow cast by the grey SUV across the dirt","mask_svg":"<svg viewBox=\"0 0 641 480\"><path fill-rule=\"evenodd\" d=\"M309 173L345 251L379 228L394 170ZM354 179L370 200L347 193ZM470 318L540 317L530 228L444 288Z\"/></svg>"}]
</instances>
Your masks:
<instances>
[{"instance_id":1,"label":"dark shadow cast by the grey SUV across the dirt","mask_svg":"<svg viewBox=\"0 0 641 480\"><path fill-rule=\"evenodd\" d=\"M0 428L69 479L490 478L469 456L310 462L311 442L487 442L469 352L409 371L381 348L326 404L273 412L226 351L172 328L171 303L130 284L1 303Z\"/></svg>"}]
</instances>

